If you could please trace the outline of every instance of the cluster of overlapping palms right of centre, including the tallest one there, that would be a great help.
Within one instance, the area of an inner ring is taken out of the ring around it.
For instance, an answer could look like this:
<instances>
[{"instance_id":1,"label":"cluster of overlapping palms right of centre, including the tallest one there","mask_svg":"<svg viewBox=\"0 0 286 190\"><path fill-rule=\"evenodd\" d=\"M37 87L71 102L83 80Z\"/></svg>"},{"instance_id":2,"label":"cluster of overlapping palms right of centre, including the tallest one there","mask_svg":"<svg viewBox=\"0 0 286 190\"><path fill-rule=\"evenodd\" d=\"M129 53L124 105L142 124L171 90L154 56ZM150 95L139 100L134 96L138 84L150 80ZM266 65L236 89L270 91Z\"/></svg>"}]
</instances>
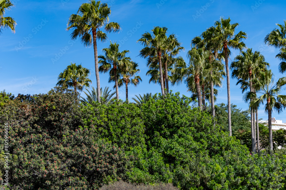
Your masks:
<instances>
[{"instance_id":1,"label":"cluster of overlapping palms right of centre, including the tallest one there","mask_svg":"<svg viewBox=\"0 0 286 190\"><path fill-rule=\"evenodd\" d=\"M229 135L231 131L231 102L230 102L230 79L228 59L230 49L242 50L246 38L245 32L235 34L238 23L231 24L231 19L216 21L214 26L208 28L200 36L192 39L192 49L188 51L189 64L186 64L181 57L176 59L172 74L172 84L184 81L188 89L196 94L200 109L205 107L205 97L211 103L212 117L215 117L215 89L214 86L221 86L222 79L227 76L227 97L228 97L228 126ZM221 61L225 61L226 73Z\"/></svg>"}]
</instances>

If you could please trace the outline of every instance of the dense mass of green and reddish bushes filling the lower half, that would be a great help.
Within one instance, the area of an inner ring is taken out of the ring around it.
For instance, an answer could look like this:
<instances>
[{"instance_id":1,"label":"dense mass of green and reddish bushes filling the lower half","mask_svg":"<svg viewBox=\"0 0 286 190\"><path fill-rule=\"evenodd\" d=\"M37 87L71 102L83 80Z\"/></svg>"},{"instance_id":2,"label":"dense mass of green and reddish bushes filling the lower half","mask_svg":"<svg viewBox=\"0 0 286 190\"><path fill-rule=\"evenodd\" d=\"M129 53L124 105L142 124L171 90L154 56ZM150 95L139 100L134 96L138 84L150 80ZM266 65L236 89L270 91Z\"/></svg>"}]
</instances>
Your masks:
<instances>
[{"instance_id":1,"label":"dense mass of green and reddish bushes filling the lower half","mask_svg":"<svg viewBox=\"0 0 286 190\"><path fill-rule=\"evenodd\" d=\"M250 155L178 93L154 95L140 106L84 106L78 94L59 87L30 102L0 97L0 122L10 126L10 189L98 189L119 180L183 190L283 189L286 183L284 149ZM0 142L3 150L3 136Z\"/></svg>"}]
</instances>

